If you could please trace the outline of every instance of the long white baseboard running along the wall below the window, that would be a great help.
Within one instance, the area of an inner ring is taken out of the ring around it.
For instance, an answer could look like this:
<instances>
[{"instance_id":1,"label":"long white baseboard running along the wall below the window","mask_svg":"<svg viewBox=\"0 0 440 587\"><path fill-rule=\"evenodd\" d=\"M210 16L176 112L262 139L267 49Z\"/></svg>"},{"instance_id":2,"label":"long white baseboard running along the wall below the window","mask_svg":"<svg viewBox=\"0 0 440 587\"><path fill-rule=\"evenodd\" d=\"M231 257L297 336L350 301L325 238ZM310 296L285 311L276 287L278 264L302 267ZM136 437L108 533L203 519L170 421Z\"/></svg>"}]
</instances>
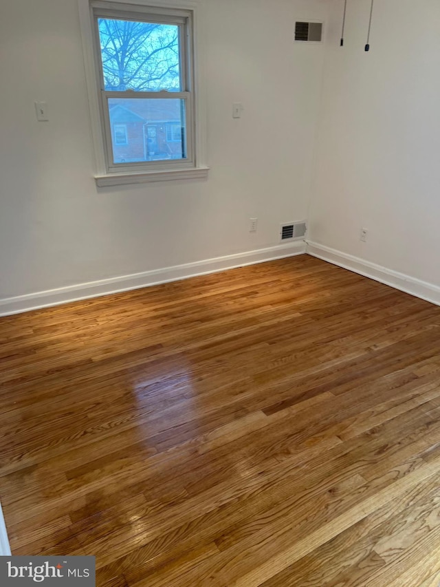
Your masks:
<instances>
[{"instance_id":1,"label":"long white baseboard running along the wall below the window","mask_svg":"<svg viewBox=\"0 0 440 587\"><path fill-rule=\"evenodd\" d=\"M58 306L61 303L71 301L80 301L102 295L166 284L168 281L179 281L179 279L208 275L209 273L217 273L226 269L274 261L275 259L293 257L294 255L303 255L305 248L305 241L290 242L289 244L250 250L246 253L216 257L215 259L166 267L146 271L145 273L136 273L135 275L124 275L123 277L91 281L87 284L0 299L0 317L47 308L48 306Z\"/></svg>"}]
</instances>

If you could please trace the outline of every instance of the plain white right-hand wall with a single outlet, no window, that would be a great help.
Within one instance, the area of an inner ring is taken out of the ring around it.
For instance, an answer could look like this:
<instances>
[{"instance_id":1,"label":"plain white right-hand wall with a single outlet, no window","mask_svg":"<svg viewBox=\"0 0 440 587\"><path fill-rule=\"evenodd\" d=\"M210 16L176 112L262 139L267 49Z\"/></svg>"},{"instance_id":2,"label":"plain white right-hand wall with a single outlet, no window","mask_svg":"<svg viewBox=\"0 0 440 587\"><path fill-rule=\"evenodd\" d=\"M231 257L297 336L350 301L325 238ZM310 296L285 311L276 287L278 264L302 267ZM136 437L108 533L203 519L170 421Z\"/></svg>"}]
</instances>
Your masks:
<instances>
[{"instance_id":1,"label":"plain white right-hand wall with a single outlet, no window","mask_svg":"<svg viewBox=\"0 0 440 587\"><path fill-rule=\"evenodd\" d=\"M375 2L369 53L370 1L349 2L343 49L342 8L332 1L309 238L440 286L440 2Z\"/></svg>"}]
</instances>

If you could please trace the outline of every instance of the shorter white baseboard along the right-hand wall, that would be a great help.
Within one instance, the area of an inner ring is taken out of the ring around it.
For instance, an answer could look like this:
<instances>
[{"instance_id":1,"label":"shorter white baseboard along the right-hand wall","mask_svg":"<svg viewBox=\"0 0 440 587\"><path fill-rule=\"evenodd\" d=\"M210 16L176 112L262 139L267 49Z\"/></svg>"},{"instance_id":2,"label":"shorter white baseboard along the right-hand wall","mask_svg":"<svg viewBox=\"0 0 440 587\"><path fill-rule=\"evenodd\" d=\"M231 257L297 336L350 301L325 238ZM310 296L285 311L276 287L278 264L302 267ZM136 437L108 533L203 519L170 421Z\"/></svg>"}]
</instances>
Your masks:
<instances>
[{"instance_id":1,"label":"shorter white baseboard along the right-hand wall","mask_svg":"<svg viewBox=\"0 0 440 587\"><path fill-rule=\"evenodd\" d=\"M347 253L342 253L340 250L316 242L307 243L307 254L312 255L312 257L318 257L318 259L322 259L323 261L328 261L333 265L343 267L344 269L354 271L354 273L360 273L360 275L370 277L370 279L375 279L375 281L380 281L381 284L386 284L387 286L440 306L440 287L430 284L428 281L421 281L421 279L416 279L404 273L399 273L392 269L376 265L375 263L364 261L360 257L347 255Z\"/></svg>"}]
</instances>

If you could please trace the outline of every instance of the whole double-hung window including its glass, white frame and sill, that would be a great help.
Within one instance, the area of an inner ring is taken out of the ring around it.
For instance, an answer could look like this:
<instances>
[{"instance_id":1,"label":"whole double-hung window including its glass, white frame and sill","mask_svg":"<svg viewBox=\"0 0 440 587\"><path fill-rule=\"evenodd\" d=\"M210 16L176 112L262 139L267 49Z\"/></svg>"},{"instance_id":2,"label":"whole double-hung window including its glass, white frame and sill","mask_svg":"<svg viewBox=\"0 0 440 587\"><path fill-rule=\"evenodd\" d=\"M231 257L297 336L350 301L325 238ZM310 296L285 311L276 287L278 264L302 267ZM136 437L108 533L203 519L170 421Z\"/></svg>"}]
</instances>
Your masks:
<instances>
[{"instance_id":1,"label":"whole double-hung window including its glass, white frame and sill","mask_svg":"<svg viewBox=\"0 0 440 587\"><path fill-rule=\"evenodd\" d=\"M89 94L93 87L96 96L98 185L206 177L196 144L194 8L144 1L79 0Z\"/></svg>"}]
</instances>

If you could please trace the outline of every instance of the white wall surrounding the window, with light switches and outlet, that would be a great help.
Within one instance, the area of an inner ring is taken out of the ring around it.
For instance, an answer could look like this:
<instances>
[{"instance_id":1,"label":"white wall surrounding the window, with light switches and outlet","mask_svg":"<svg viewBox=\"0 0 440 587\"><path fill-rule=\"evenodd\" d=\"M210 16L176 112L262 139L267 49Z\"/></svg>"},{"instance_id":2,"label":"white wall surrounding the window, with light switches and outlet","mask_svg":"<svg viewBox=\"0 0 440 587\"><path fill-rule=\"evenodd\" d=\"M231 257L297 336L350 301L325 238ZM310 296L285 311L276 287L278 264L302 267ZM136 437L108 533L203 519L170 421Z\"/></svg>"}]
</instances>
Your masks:
<instances>
[{"instance_id":1,"label":"white wall surrounding the window, with light switches and outlet","mask_svg":"<svg viewBox=\"0 0 440 587\"><path fill-rule=\"evenodd\" d=\"M201 4L209 179L98 190L76 0L1 0L0 301L274 246L306 216L324 50L293 31L327 1Z\"/></svg>"}]
</instances>

